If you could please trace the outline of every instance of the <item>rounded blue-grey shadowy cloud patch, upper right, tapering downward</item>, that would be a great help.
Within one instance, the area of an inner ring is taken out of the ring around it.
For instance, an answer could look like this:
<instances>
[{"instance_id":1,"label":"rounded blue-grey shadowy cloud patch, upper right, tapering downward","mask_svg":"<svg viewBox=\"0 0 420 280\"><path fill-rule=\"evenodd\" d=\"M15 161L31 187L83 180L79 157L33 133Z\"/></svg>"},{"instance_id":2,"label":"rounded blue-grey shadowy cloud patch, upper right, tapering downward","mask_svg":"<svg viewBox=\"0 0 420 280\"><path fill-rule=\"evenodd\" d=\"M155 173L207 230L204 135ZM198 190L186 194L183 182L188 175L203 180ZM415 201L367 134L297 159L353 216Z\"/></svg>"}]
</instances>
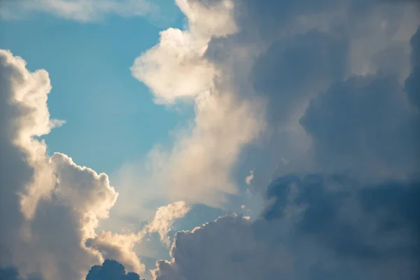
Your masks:
<instances>
[{"instance_id":1,"label":"rounded blue-grey shadowy cloud patch, upper right, tapering downward","mask_svg":"<svg viewBox=\"0 0 420 280\"><path fill-rule=\"evenodd\" d=\"M346 73L346 38L317 30L284 38L258 57L251 76L257 94L269 99L269 123L287 123L293 109L318 88Z\"/></svg>"}]
</instances>

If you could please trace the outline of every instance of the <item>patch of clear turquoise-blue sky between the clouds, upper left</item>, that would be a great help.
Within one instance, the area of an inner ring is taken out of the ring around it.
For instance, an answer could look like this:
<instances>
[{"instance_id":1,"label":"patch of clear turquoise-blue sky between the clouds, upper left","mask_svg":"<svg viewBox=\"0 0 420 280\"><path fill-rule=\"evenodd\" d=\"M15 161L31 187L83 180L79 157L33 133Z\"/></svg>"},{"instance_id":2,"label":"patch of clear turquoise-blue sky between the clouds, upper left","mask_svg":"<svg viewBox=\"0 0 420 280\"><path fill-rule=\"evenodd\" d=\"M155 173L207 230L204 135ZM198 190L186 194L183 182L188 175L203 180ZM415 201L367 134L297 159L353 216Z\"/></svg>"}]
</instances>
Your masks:
<instances>
[{"instance_id":1,"label":"patch of clear turquoise-blue sky between the clouds, upper left","mask_svg":"<svg viewBox=\"0 0 420 280\"><path fill-rule=\"evenodd\" d=\"M155 144L171 144L169 132L192 118L193 109L154 104L130 66L158 42L160 30L182 27L181 12L175 18L153 23L118 15L92 23L46 14L0 19L0 48L24 58L31 71L50 74L50 113L66 124L43 137L49 153L66 153L78 165L111 174Z\"/></svg>"}]
</instances>

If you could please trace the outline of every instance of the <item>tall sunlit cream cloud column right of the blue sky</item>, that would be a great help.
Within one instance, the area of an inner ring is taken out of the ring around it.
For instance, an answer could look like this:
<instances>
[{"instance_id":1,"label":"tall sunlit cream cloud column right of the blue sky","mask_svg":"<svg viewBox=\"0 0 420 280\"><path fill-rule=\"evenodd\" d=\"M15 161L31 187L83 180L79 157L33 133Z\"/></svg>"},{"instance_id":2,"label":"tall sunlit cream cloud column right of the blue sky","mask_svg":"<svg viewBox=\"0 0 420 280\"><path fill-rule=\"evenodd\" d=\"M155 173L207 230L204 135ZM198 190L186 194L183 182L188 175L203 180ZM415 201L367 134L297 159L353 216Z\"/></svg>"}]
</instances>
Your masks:
<instances>
[{"instance_id":1,"label":"tall sunlit cream cloud column right of the blue sky","mask_svg":"<svg viewBox=\"0 0 420 280\"><path fill-rule=\"evenodd\" d=\"M175 137L171 149L151 153L153 185L167 190L170 200L221 206L226 194L237 193L230 172L241 148L264 129L258 99L237 99L220 88L218 66L206 57L213 36L235 33L231 1L176 1L185 13L184 30L167 29L160 43L137 57L132 74L150 87L155 101L174 104L189 99L195 119Z\"/></svg>"}]
</instances>

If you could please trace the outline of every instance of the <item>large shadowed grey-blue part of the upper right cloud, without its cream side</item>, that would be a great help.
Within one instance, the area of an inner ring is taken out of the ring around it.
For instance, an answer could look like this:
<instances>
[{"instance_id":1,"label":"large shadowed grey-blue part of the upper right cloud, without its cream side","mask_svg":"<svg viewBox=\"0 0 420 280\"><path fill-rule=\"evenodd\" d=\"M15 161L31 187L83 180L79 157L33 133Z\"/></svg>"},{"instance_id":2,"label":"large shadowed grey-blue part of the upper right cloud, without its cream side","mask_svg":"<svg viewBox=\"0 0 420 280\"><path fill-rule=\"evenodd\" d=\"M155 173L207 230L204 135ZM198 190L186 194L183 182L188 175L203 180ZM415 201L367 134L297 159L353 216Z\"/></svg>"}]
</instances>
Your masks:
<instances>
[{"instance_id":1,"label":"large shadowed grey-blue part of the upper right cloud, without its cream side","mask_svg":"<svg viewBox=\"0 0 420 280\"><path fill-rule=\"evenodd\" d=\"M195 2L211 6L220 1ZM403 97L407 40L397 38L411 28L404 20L407 5L412 3L234 3L239 31L212 38L206 57L223 73L216 83L221 91L233 89L238 99L255 94L267 102L267 135L259 139L258 148L245 148L237 168L247 170L238 171L240 174L254 169L254 183L263 188L273 174L288 172L350 171L354 176L372 174L376 179L416 172L419 133L415 127L419 123ZM246 48L258 51L247 57L237 55ZM351 85L359 83L356 80L372 80L372 85L360 89L363 86ZM419 79L411 80L407 88ZM362 97L368 90L374 92ZM323 92L329 93L331 102L335 100L332 107L325 104L319 109L325 110L325 121L316 114L308 115L313 108L306 109ZM387 122L393 125L386 127ZM318 132L309 127L316 124L321 127ZM305 135L304 130L309 133Z\"/></svg>"}]
</instances>

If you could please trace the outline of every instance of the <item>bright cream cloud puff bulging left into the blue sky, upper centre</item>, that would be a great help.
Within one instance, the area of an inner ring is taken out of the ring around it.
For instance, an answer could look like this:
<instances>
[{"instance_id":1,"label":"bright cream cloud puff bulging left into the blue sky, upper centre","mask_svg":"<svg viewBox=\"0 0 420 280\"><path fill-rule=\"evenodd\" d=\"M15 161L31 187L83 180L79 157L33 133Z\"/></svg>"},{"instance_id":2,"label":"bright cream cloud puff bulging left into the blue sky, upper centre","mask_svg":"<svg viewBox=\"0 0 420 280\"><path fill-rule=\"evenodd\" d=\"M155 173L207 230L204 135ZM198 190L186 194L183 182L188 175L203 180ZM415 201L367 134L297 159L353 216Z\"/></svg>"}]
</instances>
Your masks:
<instances>
[{"instance_id":1,"label":"bright cream cloud puff bulging left into the blue sky, upper centre","mask_svg":"<svg viewBox=\"0 0 420 280\"><path fill-rule=\"evenodd\" d=\"M213 87L216 69L203 58L207 41L188 31L160 32L160 43L134 61L133 76L155 94L155 102L172 104Z\"/></svg>"}]
</instances>

